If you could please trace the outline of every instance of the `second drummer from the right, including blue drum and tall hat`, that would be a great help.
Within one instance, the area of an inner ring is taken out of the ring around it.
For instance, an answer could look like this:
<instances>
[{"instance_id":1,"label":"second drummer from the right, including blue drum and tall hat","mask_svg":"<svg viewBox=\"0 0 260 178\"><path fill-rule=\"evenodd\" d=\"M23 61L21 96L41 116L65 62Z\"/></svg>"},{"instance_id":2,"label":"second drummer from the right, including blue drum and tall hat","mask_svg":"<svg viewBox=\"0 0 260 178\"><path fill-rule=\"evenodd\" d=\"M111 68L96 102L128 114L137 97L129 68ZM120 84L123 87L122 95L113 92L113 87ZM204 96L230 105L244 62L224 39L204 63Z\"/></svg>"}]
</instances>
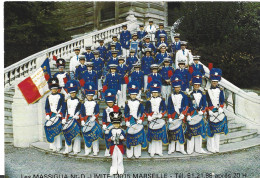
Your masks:
<instances>
[{"instance_id":1,"label":"second drummer from the right, including blue drum and tall hat","mask_svg":"<svg viewBox=\"0 0 260 178\"><path fill-rule=\"evenodd\" d=\"M206 153L202 148L202 139L206 138L204 113L206 112L206 92L200 90L202 74L199 71L192 73L193 91L189 95L189 111L187 125L187 153Z\"/></svg>"}]
</instances>

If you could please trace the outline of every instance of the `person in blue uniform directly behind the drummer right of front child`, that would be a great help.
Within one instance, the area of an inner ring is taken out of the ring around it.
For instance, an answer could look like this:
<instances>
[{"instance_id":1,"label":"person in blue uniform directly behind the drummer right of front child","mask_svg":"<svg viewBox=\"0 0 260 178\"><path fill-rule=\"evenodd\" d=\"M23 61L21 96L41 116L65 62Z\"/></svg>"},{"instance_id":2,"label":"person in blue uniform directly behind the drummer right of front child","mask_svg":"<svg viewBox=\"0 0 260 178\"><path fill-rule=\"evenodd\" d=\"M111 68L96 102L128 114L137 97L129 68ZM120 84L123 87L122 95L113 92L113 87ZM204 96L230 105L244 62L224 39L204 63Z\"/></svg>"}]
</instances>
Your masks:
<instances>
[{"instance_id":1,"label":"person in blue uniform directly behind the drummer right of front child","mask_svg":"<svg viewBox=\"0 0 260 178\"><path fill-rule=\"evenodd\" d=\"M137 94L137 98L141 100L142 91L144 91L144 73L140 71L141 64L133 64L134 72L131 73L131 81L135 81L138 83L139 93Z\"/></svg>"}]
</instances>

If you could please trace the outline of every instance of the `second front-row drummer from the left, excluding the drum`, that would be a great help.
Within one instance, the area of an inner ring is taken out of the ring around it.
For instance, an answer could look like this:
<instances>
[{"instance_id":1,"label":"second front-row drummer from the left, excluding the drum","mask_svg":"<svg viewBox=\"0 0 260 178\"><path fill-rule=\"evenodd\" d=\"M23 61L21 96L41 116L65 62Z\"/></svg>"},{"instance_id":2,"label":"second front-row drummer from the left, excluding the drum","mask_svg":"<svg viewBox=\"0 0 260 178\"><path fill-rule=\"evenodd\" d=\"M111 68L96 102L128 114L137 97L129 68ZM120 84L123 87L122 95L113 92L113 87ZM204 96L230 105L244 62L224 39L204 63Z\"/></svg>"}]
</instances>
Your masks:
<instances>
[{"instance_id":1,"label":"second front-row drummer from the left, excluding the drum","mask_svg":"<svg viewBox=\"0 0 260 178\"><path fill-rule=\"evenodd\" d=\"M80 114L80 107L81 102L77 98L77 92L80 87L80 84L77 80L69 80L65 85L65 90L70 94L70 98L65 102L64 107L62 108L62 124L65 125L71 119L75 119L80 125L79 114ZM80 132L79 132L80 133ZM73 154L78 154L81 151L81 136L73 135L74 137L74 144L73 144ZM66 137L65 137L66 139ZM72 138L73 139L73 138ZM71 140L70 140L71 141ZM65 151L63 154L68 154L72 151L72 145L68 145L65 141Z\"/></svg>"}]
</instances>

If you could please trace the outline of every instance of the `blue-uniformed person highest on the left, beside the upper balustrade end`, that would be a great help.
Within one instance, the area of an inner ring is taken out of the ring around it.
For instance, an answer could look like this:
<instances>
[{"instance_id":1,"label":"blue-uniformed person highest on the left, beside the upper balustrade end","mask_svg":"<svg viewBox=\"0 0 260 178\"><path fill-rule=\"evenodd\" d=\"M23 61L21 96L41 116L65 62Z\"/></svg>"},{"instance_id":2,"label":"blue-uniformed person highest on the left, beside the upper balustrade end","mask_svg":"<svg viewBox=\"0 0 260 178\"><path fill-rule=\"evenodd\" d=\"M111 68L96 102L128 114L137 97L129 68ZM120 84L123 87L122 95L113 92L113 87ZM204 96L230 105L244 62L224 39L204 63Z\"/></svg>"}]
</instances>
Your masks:
<instances>
[{"instance_id":1,"label":"blue-uniformed person highest on the left, beside the upper balustrade end","mask_svg":"<svg viewBox=\"0 0 260 178\"><path fill-rule=\"evenodd\" d=\"M124 57L129 55L129 47L130 47L130 39L131 37L131 33L130 31L127 30L127 25L123 25L122 26L123 30L120 33L120 43L122 46L122 54Z\"/></svg>"}]
</instances>

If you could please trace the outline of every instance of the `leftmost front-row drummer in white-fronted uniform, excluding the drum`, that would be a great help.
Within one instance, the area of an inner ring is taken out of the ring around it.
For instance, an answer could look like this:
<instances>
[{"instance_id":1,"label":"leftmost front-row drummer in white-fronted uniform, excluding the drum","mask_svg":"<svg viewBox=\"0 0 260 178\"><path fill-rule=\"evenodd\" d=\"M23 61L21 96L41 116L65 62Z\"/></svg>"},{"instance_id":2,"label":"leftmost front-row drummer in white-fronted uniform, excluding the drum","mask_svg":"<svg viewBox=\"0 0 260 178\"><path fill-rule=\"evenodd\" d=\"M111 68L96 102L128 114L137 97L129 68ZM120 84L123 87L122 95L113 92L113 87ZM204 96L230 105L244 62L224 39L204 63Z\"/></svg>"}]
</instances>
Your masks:
<instances>
[{"instance_id":1,"label":"leftmost front-row drummer in white-fronted uniform, excluding the drum","mask_svg":"<svg viewBox=\"0 0 260 178\"><path fill-rule=\"evenodd\" d=\"M58 93L59 89L59 80L54 77L48 80L49 89L51 90L51 94L46 98L45 102L45 112L46 112L46 120L53 122L53 118L62 117L62 106L64 105L64 95ZM60 124L61 125L61 124ZM53 152L59 152L62 148L62 139L61 139L61 130L59 133L55 133L54 142L50 143L50 149ZM46 137L48 137L46 133Z\"/></svg>"}]
</instances>

